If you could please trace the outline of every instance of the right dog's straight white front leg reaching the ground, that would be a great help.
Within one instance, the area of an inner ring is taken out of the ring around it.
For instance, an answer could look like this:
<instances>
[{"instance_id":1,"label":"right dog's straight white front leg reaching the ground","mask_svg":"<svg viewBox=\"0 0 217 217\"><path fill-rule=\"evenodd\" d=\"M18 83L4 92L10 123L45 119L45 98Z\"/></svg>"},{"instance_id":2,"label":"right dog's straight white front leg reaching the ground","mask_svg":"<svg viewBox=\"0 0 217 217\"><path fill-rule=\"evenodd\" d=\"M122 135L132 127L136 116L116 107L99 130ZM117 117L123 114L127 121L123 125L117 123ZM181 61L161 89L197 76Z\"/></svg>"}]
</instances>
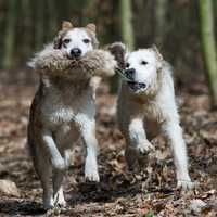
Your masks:
<instances>
[{"instance_id":1,"label":"right dog's straight white front leg reaching the ground","mask_svg":"<svg viewBox=\"0 0 217 217\"><path fill-rule=\"evenodd\" d=\"M193 183L191 182L191 178L188 171L187 148L182 136L182 129L179 123L167 123L164 127L164 130L170 140L171 149L174 152L177 187L190 189L192 188Z\"/></svg>"}]
</instances>

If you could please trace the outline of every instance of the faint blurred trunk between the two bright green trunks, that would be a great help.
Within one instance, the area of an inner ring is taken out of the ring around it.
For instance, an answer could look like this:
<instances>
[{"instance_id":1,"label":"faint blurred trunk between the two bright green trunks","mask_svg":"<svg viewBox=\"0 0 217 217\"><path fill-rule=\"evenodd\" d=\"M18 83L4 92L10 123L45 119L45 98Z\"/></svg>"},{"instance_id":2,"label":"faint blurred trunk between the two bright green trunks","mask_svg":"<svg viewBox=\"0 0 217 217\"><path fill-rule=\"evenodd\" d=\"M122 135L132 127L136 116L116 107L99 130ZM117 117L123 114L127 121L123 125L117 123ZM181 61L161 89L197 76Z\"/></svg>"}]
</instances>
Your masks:
<instances>
[{"instance_id":1,"label":"faint blurred trunk between the two bright green trunks","mask_svg":"<svg viewBox=\"0 0 217 217\"><path fill-rule=\"evenodd\" d=\"M166 31L166 12L167 0L156 0L155 5L155 42L158 46L164 43L164 35Z\"/></svg>"}]
</instances>

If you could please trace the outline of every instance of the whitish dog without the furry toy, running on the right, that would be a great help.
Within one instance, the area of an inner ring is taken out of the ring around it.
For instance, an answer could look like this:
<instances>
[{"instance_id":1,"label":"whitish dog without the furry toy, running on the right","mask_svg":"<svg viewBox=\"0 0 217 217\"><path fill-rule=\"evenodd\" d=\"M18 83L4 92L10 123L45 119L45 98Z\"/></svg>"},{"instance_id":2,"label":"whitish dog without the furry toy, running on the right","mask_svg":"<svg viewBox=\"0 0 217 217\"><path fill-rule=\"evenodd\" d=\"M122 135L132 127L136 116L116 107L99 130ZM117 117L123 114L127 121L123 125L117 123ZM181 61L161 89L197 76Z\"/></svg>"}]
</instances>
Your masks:
<instances>
[{"instance_id":1,"label":"whitish dog without the furry toy, running on the right","mask_svg":"<svg viewBox=\"0 0 217 217\"><path fill-rule=\"evenodd\" d=\"M122 43L116 43L118 46L122 47ZM161 130L168 137L174 152L177 186L191 188L171 67L155 47L125 55L124 74L127 79L122 81L119 88L117 118L126 138L125 155L128 166L132 167L138 155L153 149L149 140Z\"/></svg>"}]
</instances>

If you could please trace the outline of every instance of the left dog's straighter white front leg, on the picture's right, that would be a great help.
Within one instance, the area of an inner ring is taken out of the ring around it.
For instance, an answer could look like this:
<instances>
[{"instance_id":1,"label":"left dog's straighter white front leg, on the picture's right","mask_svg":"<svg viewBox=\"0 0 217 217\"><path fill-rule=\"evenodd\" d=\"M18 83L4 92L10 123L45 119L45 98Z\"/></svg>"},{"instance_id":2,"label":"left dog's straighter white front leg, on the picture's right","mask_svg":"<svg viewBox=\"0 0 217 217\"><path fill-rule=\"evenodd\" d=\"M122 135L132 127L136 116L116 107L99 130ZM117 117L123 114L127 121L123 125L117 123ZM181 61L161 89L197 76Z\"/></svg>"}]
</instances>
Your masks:
<instances>
[{"instance_id":1,"label":"left dog's straighter white front leg, on the picture's right","mask_svg":"<svg viewBox=\"0 0 217 217\"><path fill-rule=\"evenodd\" d=\"M95 120L88 115L78 115L80 133L86 146L85 177L89 181L100 181L98 173L98 141L95 139Z\"/></svg>"}]
</instances>

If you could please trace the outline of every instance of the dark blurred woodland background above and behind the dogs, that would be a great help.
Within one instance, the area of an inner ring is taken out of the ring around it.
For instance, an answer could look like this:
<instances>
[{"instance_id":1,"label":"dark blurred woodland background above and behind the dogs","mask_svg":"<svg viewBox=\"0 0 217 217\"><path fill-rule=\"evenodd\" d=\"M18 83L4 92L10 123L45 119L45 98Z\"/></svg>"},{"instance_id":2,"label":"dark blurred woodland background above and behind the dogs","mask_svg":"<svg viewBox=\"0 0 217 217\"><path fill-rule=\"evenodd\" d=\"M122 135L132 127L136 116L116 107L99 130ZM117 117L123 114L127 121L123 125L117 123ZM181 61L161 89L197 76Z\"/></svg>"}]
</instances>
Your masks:
<instances>
[{"instance_id":1,"label":"dark blurred woodland background above and behind the dogs","mask_svg":"<svg viewBox=\"0 0 217 217\"><path fill-rule=\"evenodd\" d=\"M210 11L217 11L217 1L208 1L213 2ZM123 40L130 48L139 48L156 43L165 59L175 67L177 85L191 86L195 80L204 79L202 51L205 51L204 60L207 63L205 68L209 72L207 75L214 75L215 73L210 72L216 71L208 67L210 65L208 61L214 64L216 58L207 52L216 47L210 41L215 40L214 35L217 34L217 29L212 27L213 39L206 39L205 31L210 22L208 20L212 18L203 16L205 12L202 4L205 2L205 0L0 0L0 68L12 69L12 75L14 69L25 68L29 56L54 38L61 22L71 20L75 26L94 22L101 44ZM208 13L207 16L212 14ZM213 13L213 18L210 26L217 21L217 13ZM213 99L216 94L216 81L212 82L214 79L216 80L216 76L208 79Z\"/></svg>"}]
</instances>

